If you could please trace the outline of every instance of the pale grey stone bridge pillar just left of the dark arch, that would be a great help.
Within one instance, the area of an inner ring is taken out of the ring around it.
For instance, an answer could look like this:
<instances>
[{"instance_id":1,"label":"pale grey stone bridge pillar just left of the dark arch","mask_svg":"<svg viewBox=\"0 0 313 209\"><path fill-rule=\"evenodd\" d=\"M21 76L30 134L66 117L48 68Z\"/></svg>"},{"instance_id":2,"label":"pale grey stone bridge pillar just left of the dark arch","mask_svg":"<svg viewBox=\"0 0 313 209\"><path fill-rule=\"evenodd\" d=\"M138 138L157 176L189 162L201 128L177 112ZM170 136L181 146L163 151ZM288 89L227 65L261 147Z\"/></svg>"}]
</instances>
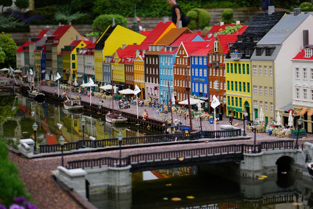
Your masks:
<instances>
[{"instance_id":1,"label":"pale grey stone bridge pillar just left of the dark arch","mask_svg":"<svg viewBox=\"0 0 313 209\"><path fill-rule=\"evenodd\" d=\"M260 153L244 153L244 160L240 161L240 175L246 178L259 178L262 175L262 155Z\"/></svg>"}]
</instances>

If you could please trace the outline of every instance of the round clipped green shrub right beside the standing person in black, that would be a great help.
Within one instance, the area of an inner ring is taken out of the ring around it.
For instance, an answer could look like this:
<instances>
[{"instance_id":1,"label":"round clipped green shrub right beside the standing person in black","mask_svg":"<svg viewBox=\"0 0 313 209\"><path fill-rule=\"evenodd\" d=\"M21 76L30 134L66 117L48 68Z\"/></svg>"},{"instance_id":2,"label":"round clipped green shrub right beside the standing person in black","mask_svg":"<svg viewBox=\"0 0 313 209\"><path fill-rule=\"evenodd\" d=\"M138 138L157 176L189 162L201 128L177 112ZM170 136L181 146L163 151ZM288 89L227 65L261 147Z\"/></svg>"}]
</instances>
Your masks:
<instances>
[{"instance_id":1,"label":"round clipped green shrub right beside the standing person in black","mask_svg":"<svg viewBox=\"0 0 313 209\"><path fill-rule=\"evenodd\" d=\"M208 26L211 22L211 15L208 11L204 9L191 9L186 14L190 18L190 23L188 24L188 28L191 30L204 28Z\"/></svg>"}]
</instances>

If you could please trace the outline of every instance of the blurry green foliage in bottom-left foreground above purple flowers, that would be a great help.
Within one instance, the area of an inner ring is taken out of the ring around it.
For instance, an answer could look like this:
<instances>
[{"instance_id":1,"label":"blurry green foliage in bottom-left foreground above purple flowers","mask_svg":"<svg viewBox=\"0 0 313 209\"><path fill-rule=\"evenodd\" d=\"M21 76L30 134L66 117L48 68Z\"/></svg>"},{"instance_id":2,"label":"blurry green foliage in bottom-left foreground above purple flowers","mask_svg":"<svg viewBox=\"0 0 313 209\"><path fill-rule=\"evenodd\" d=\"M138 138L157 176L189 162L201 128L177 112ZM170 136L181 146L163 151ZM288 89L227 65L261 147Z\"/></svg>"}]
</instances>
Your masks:
<instances>
[{"instance_id":1,"label":"blurry green foliage in bottom-left foreground above purple flowers","mask_svg":"<svg viewBox=\"0 0 313 209\"><path fill-rule=\"evenodd\" d=\"M14 197L24 196L29 199L30 194L25 191L25 183L19 178L19 170L8 157L7 145L0 138L0 203L9 207L15 203Z\"/></svg>"}]
</instances>

